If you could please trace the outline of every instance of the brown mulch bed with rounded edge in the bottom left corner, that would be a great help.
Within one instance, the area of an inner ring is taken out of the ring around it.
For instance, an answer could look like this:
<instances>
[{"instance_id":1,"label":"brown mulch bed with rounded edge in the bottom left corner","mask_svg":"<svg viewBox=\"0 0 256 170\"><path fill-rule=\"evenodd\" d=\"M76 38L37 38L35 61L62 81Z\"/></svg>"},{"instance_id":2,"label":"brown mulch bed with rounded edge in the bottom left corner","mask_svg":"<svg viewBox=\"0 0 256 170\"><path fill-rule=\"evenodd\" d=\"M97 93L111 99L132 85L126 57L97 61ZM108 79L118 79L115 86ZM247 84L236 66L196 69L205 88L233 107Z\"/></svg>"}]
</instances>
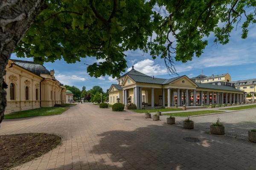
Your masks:
<instances>
[{"instance_id":1,"label":"brown mulch bed with rounded edge in the bottom left corner","mask_svg":"<svg viewBox=\"0 0 256 170\"><path fill-rule=\"evenodd\" d=\"M0 136L0 170L31 161L61 144L61 137L48 133Z\"/></svg>"}]
</instances>

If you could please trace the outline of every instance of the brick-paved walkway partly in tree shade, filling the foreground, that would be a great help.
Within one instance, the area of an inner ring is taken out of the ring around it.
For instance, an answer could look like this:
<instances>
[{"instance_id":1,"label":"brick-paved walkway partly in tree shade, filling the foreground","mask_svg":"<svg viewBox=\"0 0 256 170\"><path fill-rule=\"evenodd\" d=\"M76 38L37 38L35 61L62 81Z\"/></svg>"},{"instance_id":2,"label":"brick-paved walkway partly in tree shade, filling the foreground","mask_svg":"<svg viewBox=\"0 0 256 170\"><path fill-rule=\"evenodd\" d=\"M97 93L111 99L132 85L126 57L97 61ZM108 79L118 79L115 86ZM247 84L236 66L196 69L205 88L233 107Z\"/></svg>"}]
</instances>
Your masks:
<instances>
[{"instance_id":1,"label":"brick-paved walkway partly in tree shade, filling the foreground","mask_svg":"<svg viewBox=\"0 0 256 170\"><path fill-rule=\"evenodd\" d=\"M4 120L0 135L47 132L63 137L61 146L15 168L20 170L256 169L255 143L143 117L83 104L61 115Z\"/></svg>"}]
</instances>

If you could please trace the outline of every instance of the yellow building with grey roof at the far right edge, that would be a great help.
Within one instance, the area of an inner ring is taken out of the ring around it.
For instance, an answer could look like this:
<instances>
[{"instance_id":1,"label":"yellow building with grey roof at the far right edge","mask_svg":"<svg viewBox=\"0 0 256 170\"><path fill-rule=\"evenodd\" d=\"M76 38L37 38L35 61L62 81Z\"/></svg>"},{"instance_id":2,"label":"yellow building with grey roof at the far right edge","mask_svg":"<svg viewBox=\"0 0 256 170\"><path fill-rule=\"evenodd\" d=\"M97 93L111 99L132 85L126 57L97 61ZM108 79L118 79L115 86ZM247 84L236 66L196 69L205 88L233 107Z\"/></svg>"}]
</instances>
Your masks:
<instances>
[{"instance_id":1,"label":"yellow building with grey roof at the far right edge","mask_svg":"<svg viewBox=\"0 0 256 170\"><path fill-rule=\"evenodd\" d=\"M231 83L233 83L236 86L236 89L239 89L246 93L247 100L252 99L254 101L256 99L256 96L255 96L256 79L239 80Z\"/></svg>"}]
</instances>

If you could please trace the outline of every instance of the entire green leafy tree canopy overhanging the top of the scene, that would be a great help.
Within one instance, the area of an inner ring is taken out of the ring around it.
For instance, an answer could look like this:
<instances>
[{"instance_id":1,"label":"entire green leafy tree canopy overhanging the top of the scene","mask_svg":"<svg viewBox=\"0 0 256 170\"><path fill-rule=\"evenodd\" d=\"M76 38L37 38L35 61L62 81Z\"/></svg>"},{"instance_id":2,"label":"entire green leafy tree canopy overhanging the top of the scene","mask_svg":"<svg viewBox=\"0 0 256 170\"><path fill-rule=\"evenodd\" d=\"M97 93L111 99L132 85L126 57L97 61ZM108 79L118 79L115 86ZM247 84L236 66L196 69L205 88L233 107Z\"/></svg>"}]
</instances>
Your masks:
<instances>
[{"instance_id":1,"label":"entire green leafy tree canopy overhanging the top of the scene","mask_svg":"<svg viewBox=\"0 0 256 170\"><path fill-rule=\"evenodd\" d=\"M216 44L226 44L241 20L241 38L256 23L255 0L51 0L46 5L17 45L17 56L41 63L105 59L88 65L94 77L118 77L127 67L124 51L138 48L163 58L175 74L174 61L200 57L210 33Z\"/></svg>"}]
</instances>

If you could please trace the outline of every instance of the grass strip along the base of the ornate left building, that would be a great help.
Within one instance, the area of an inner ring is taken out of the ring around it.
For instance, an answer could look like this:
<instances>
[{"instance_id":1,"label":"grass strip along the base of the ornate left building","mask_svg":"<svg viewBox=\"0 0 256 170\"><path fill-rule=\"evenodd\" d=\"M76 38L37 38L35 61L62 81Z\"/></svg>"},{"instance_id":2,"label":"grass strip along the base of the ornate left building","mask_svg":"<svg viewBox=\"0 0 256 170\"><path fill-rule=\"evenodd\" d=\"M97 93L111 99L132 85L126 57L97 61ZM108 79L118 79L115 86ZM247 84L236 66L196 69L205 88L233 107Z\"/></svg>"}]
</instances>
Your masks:
<instances>
[{"instance_id":1,"label":"grass strip along the base of the ornate left building","mask_svg":"<svg viewBox=\"0 0 256 170\"><path fill-rule=\"evenodd\" d=\"M37 108L26 111L18 111L12 114L4 115L4 119L16 119L16 118L24 118L31 116L49 116L54 114L61 114L64 111L67 111L70 108L63 107L52 107L52 108Z\"/></svg>"}]
</instances>

